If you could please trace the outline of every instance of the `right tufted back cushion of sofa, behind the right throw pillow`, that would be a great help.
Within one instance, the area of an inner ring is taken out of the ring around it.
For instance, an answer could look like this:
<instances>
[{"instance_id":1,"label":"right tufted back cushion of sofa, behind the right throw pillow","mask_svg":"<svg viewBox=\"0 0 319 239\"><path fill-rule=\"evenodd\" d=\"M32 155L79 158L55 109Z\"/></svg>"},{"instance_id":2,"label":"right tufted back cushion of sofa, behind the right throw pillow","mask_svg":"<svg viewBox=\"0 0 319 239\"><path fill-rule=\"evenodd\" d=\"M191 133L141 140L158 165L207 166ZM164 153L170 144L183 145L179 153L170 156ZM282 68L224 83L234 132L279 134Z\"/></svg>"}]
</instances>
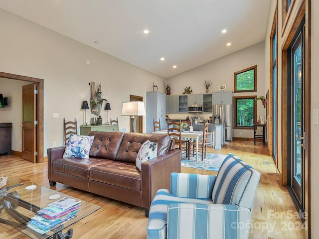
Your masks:
<instances>
[{"instance_id":1,"label":"right tufted back cushion of sofa, behind the right throw pillow","mask_svg":"<svg viewBox=\"0 0 319 239\"><path fill-rule=\"evenodd\" d=\"M146 140L158 143L158 156L168 152L170 146L170 137L168 135L126 133L115 160L135 164L140 147Z\"/></svg>"}]
</instances>

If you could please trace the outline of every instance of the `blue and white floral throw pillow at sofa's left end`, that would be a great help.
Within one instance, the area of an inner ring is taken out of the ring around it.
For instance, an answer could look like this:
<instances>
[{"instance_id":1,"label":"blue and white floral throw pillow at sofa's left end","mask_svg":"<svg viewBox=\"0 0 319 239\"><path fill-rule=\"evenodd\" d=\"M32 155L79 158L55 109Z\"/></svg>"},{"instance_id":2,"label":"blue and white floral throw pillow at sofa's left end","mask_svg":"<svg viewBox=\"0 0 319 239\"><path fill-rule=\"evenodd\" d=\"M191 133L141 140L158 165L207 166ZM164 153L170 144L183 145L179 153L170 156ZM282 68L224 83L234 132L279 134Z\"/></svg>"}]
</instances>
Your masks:
<instances>
[{"instance_id":1,"label":"blue and white floral throw pillow at sofa's left end","mask_svg":"<svg viewBox=\"0 0 319 239\"><path fill-rule=\"evenodd\" d=\"M72 135L65 147L63 157L89 158L89 152L93 143L93 136Z\"/></svg>"}]
</instances>

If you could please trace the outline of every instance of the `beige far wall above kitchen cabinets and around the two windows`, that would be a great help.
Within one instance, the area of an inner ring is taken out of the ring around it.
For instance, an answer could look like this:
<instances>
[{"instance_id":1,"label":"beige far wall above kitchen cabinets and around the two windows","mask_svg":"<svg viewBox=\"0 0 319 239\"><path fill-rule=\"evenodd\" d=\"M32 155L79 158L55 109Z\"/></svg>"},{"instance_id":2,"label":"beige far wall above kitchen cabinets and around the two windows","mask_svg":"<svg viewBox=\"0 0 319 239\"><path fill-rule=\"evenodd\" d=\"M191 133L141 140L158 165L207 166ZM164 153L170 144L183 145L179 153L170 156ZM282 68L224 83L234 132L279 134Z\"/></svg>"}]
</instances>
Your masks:
<instances>
[{"instance_id":1,"label":"beige far wall above kitchen cabinets and around the two windows","mask_svg":"<svg viewBox=\"0 0 319 239\"><path fill-rule=\"evenodd\" d=\"M170 84L171 95L178 95L184 92L186 86L191 86L192 93L205 93L204 80L212 80L210 91L218 91L221 84L226 84L226 90L234 91L234 72L257 65L257 92L235 93L234 96L261 96L266 95L265 91L265 42L221 57L204 65L180 73L167 79ZM265 116L261 101L257 102L258 116ZM242 132L242 135L240 134ZM234 129L234 137L254 137L253 129Z\"/></svg>"}]
</instances>

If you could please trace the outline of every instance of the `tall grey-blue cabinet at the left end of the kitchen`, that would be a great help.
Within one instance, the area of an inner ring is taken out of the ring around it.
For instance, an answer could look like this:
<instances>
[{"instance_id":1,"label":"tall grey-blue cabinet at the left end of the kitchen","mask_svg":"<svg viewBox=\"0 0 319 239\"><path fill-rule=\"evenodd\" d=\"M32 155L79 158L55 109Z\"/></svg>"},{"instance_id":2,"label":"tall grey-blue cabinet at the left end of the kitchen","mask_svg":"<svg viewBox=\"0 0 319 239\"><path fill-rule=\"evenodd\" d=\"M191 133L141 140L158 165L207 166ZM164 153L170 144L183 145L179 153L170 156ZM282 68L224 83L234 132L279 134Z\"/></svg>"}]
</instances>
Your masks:
<instances>
[{"instance_id":1,"label":"tall grey-blue cabinet at the left end of the kitchen","mask_svg":"<svg viewBox=\"0 0 319 239\"><path fill-rule=\"evenodd\" d=\"M146 132L152 133L154 119L160 120L160 129L165 129L166 94L158 91L146 93Z\"/></svg>"}]
</instances>

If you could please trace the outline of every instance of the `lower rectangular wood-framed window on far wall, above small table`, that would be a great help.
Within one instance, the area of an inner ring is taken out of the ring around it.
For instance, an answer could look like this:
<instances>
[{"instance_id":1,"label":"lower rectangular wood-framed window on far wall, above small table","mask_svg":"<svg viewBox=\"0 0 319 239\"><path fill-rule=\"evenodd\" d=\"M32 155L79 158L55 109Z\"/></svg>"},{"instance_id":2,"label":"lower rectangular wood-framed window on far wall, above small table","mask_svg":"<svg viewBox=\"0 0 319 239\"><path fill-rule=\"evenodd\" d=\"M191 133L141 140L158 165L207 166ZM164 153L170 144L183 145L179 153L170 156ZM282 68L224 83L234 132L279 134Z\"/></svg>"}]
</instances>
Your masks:
<instances>
[{"instance_id":1,"label":"lower rectangular wood-framed window on far wall, above small table","mask_svg":"<svg viewBox=\"0 0 319 239\"><path fill-rule=\"evenodd\" d=\"M234 128L254 127L257 121L257 96L235 96L234 97Z\"/></svg>"}]
</instances>

